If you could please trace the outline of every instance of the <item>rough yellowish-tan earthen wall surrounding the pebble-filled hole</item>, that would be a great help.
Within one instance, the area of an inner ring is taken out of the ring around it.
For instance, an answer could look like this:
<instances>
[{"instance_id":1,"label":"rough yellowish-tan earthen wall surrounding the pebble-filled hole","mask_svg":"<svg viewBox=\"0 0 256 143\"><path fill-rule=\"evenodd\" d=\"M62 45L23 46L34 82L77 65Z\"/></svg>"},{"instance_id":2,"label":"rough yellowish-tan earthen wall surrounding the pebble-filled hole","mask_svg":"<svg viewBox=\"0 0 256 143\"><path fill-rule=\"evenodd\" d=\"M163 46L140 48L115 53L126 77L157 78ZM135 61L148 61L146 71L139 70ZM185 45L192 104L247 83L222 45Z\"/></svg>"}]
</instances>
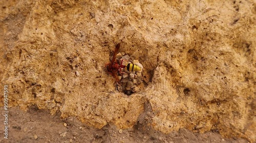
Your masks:
<instances>
[{"instance_id":1,"label":"rough yellowish-tan earthen wall surrounding the pebble-filled hole","mask_svg":"<svg viewBox=\"0 0 256 143\"><path fill-rule=\"evenodd\" d=\"M129 128L149 101L162 132L256 139L255 1L30 0L1 13L0 78L11 106ZM119 42L144 67L131 96L104 67Z\"/></svg>"}]
</instances>

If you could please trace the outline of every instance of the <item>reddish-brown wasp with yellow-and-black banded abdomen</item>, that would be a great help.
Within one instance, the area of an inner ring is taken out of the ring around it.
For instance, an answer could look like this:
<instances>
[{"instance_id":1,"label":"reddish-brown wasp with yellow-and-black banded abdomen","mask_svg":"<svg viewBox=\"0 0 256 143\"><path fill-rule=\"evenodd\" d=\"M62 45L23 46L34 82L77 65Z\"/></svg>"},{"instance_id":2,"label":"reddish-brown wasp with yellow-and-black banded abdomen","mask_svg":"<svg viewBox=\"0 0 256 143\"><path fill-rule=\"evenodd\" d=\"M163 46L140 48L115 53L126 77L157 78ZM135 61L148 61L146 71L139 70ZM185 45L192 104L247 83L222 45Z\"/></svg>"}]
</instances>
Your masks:
<instances>
[{"instance_id":1,"label":"reddish-brown wasp with yellow-and-black banded abdomen","mask_svg":"<svg viewBox=\"0 0 256 143\"><path fill-rule=\"evenodd\" d=\"M125 72L122 72L122 69L126 69L127 71L140 71L141 69L139 66L132 63L128 63L126 60L123 60L123 59L119 60L119 63L120 63L119 65L116 60L116 55L119 49L120 49L120 43L116 45L113 59L111 63L106 64L106 69L108 70L109 74L111 74L116 79L117 83L121 85L122 83L117 75L118 71L120 74L122 74L122 73L125 73Z\"/></svg>"}]
</instances>

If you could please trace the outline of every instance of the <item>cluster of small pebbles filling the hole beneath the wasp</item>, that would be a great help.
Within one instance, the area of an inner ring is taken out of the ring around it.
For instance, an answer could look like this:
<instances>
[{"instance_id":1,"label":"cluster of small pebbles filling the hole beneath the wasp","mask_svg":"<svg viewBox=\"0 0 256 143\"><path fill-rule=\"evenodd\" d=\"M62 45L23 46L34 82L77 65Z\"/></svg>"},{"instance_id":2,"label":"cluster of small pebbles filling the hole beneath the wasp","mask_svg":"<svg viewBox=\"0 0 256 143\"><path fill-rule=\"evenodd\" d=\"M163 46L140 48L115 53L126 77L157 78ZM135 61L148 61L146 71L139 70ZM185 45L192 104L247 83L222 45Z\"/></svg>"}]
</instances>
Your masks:
<instances>
[{"instance_id":1,"label":"cluster of small pebbles filling the hole beneath the wasp","mask_svg":"<svg viewBox=\"0 0 256 143\"><path fill-rule=\"evenodd\" d=\"M118 55L117 55L118 56ZM122 82L122 85L117 84L117 90L119 92L124 92L126 95L131 95L133 93L136 93L139 91L139 84L142 83L142 69L143 66L139 63L139 60L133 60L129 55L125 54L118 60L118 64L121 64L121 61L125 60L128 63L135 64L138 67L140 67L140 71L127 71L126 69L123 69L122 72L119 75L119 79Z\"/></svg>"}]
</instances>

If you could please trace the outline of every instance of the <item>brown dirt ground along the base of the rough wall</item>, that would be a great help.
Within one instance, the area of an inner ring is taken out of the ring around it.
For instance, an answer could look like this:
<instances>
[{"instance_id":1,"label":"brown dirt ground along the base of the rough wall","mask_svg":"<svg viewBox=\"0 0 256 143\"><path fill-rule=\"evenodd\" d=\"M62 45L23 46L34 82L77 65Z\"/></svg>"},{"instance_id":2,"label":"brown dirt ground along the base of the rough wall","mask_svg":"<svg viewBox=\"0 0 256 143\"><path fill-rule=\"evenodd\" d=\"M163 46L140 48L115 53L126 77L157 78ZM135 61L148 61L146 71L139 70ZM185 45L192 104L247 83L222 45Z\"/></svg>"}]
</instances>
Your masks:
<instances>
[{"instance_id":1,"label":"brown dirt ground along the base of the rough wall","mask_svg":"<svg viewBox=\"0 0 256 143\"><path fill-rule=\"evenodd\" d=\"M145 103L145 111L140 115L137 124L131 129L118 130L108 124L102 129L88 127L69 117L60 119L59 115L51 116L47 110L31 106L28 112L18 107L9 109L9 134L0 142L248 142L242 138L223 138L216 131L193 133L187 129L169 134L161 133L147 126L151 122L150 104ZM3 112L3 108L0 109ZM3 123L3 118L1 118ZM3 129L3 124L0 124Z\"/></svg>"}]
</instances>

